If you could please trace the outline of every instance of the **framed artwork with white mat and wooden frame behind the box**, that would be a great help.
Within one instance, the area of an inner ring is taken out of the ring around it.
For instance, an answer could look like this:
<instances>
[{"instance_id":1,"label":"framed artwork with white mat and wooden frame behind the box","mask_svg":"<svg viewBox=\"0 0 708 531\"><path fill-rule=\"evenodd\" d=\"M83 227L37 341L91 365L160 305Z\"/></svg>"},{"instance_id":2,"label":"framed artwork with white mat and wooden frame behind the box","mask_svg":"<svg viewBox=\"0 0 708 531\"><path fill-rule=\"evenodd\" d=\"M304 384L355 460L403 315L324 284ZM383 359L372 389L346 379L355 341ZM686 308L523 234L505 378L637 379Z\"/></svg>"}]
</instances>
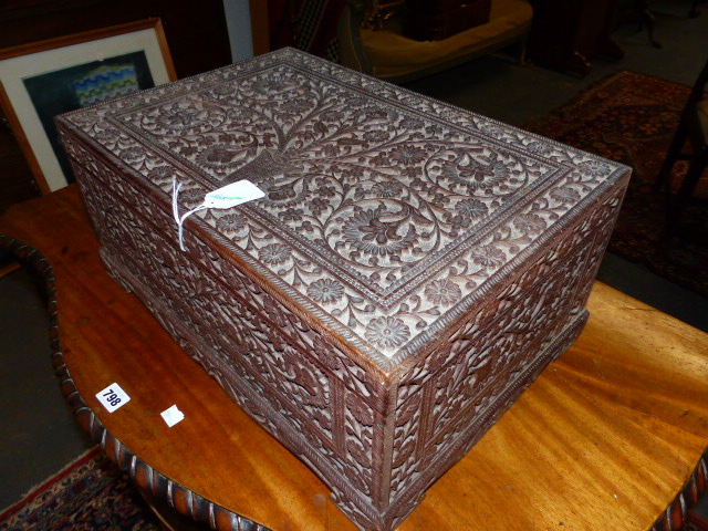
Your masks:
<instances>
[{"instance_id":1,"label":"framed artwork with white mat and wooden frame behind the box","mask_svg":"<svg viewBox=\"0 0 708 531\"><path fill-rule=\"evenodd\" d=\"M159 19L0 50L0 106L43 194L74 180L54 116L176 80Z\"/></svg>"}]
</instances>

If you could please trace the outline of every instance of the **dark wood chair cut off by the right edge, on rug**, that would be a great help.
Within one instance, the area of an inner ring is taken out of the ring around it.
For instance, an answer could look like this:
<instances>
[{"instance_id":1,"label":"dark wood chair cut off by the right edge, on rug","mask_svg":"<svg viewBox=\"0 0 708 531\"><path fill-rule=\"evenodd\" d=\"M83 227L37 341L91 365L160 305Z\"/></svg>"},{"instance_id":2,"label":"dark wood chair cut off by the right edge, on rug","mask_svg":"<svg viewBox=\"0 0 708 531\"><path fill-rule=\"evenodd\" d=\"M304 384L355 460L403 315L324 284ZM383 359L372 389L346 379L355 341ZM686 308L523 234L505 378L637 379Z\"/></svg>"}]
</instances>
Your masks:
<instances>
[{"instance_id":1,"label":"dark wood chair cut off by the right edge, on rug","mask_svg":"<svg viewBox=\"0 0 708 531\"><path fill-rule=\"evenodd\" d=\"M678 128L656 178L656 187L668 197L666 232L675 228L686 202L696 190L700 176L708 167L708 61L704 65L681 112ZM673 195L673 169L678 160L688 160L678 191Z\"/></svg>"}]
</instances>

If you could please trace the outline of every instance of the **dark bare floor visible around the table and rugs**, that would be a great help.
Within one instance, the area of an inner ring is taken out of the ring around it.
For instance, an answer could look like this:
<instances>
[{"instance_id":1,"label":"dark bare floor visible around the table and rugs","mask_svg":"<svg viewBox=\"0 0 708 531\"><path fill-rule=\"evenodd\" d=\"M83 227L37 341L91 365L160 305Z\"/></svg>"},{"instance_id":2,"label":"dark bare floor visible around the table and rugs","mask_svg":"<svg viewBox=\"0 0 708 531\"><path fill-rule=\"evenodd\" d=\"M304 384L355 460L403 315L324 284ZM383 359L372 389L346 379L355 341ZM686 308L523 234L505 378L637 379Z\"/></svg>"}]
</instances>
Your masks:
<instances>
[{"instance_id":1,"label":"dark bare floor visible around the table and rugs","mask_svg":"<svg viewBox=\"0 0 708 531\"><path fill-rule=\"evenodd\" d=\"M585 79L508 58L485 58L416 81L412 90L522 125L563 105L580 91L617 70L634 70L691 84L708 56L708 8L688 19L689 0L655 0L656 39L634 23L615 38L626 52L617 62L595 60ZM708 300L607 256L600 279L708 331ZM46 316L22 271L0 278L0 510L53 475L91 445L64 404L49 363Z\"/></svg>"}]
</instances>

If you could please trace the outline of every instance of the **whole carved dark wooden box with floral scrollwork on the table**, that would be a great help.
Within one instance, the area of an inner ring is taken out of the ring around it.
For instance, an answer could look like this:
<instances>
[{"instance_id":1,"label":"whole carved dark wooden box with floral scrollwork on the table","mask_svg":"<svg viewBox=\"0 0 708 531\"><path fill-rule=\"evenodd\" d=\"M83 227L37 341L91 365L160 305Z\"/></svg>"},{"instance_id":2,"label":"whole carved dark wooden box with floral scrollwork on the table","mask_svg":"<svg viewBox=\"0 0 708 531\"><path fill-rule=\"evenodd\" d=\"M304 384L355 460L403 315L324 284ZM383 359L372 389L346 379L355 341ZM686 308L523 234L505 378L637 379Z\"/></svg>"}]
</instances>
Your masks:
<instances>
[{"instance_id":1,"label":"whole carved dark wooden box with floral scrollwork on the table","mask_svg":"<svg viewBox=\"0 0 708 531\"><path fill-rule=\"evenodd\" d=\"M366 530L577 336L629 176L293 50L58 124L112 274ZM240 179L181 251L174 181Z\"/></svg>"}]
</instances>

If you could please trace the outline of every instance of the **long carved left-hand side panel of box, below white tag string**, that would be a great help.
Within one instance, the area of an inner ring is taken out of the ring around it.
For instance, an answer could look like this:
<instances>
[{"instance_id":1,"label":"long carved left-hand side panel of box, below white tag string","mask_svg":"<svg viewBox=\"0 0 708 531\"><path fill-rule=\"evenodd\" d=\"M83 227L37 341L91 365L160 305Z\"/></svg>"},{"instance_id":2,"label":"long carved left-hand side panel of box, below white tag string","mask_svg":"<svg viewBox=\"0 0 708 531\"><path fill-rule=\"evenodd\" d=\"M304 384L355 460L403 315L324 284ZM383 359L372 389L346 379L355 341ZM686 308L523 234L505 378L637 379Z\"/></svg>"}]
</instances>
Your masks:
<instances>
[{"instance_id":1,"label":"long carved left-hand side panel of box, below white tag string","mask_svg":"<svg viewBox=\"0 0 708 531\"><path fill-rule=\"evenodd\" d=\"M332 337L187 233L83 147L70 148L102 256L163 325L266 429L310 465L357 524L382 507L388 392ZM85 164L88 162L88 164Z\"/></svg>"}]
</instances>

